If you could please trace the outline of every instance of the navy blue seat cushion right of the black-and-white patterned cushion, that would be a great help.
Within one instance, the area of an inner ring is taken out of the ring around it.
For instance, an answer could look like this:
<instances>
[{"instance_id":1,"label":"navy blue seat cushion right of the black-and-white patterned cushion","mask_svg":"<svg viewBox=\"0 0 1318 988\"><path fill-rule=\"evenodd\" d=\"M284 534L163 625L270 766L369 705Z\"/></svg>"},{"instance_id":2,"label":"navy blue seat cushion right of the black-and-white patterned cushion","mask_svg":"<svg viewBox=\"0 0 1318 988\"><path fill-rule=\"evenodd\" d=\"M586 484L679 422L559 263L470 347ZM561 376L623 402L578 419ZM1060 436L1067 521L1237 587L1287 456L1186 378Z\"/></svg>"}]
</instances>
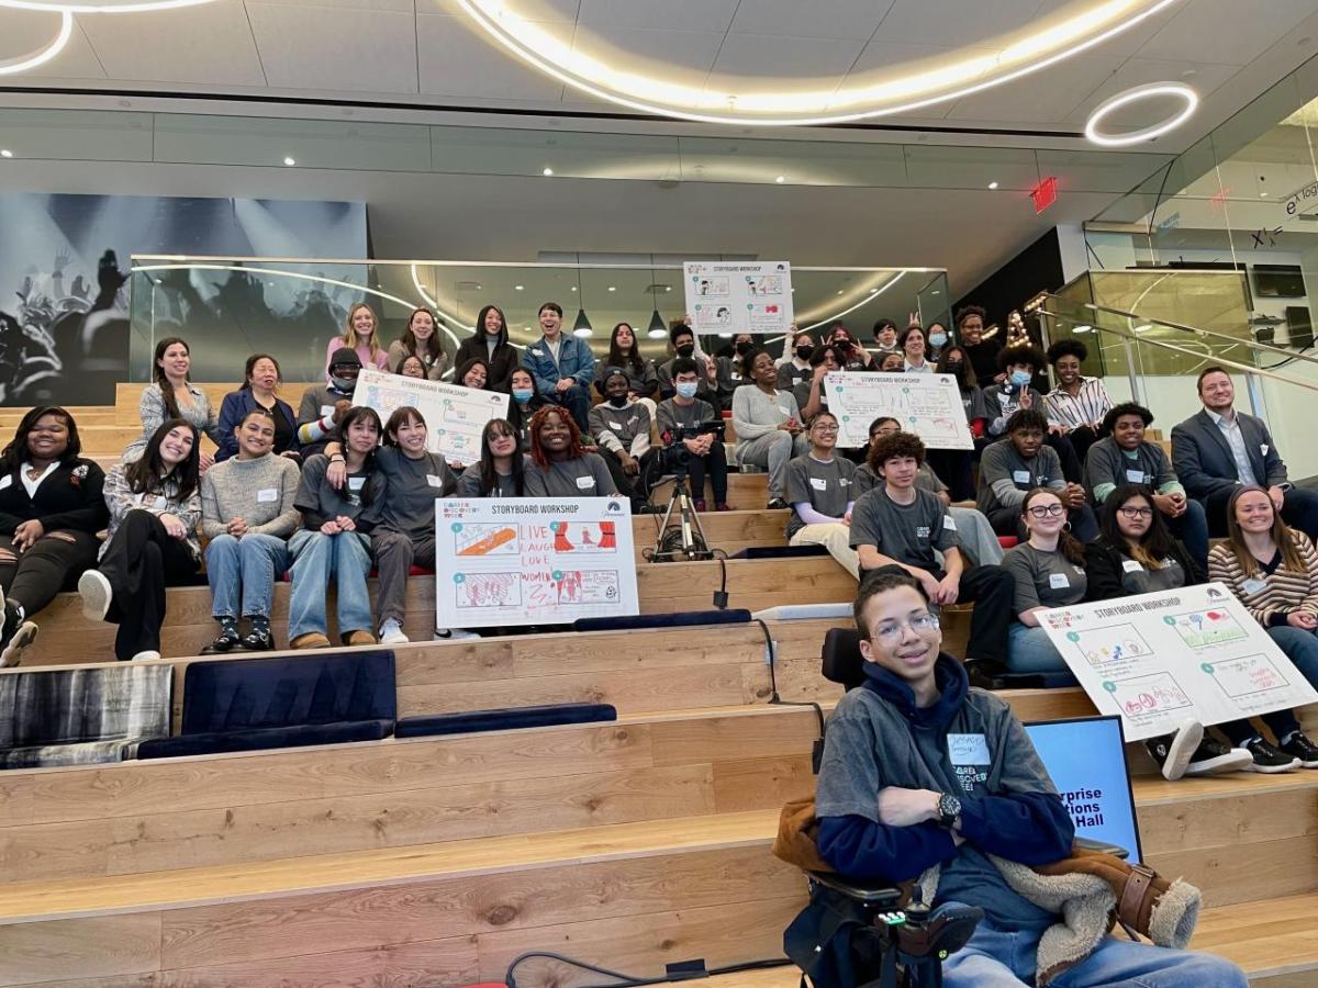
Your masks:
<instances>
[{"instance_id":1,"label":"navy blue seat cushion right of the black-and-white patterned cushion","mask_svg":"<svg viewBox=\"0 0 1318 988\"><path fill-rule=\"evenodd\" d=\"M183 680L183 734L393 721L397 715L390 651L192 663Z\"/></svg>"}]
</instances>

